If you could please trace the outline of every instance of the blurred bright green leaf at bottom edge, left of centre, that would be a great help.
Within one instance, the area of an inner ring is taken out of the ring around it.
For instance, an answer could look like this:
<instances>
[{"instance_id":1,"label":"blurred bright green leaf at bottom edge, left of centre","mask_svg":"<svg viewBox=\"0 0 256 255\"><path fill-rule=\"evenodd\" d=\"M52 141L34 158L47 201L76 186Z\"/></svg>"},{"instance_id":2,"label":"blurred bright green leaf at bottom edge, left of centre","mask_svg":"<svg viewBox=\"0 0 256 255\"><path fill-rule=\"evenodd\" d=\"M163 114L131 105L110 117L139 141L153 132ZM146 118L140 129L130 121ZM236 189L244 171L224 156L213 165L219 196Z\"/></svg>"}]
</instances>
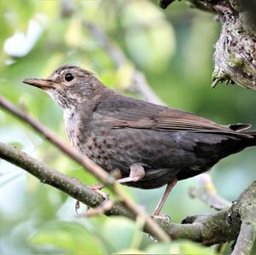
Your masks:
<instances>
[{"instance_id":1,"label":"blurred bright green leaf at bottom edge, left of centre","mask_svg":"<svg viewBox=\"0 0 256 255\"><path fill-rule=\"evenodd\" d=\"M30 239L32 245L53 246L74 254L102 254L102 241L79 223L47 223Z\"/></svg>"}]
</instances>

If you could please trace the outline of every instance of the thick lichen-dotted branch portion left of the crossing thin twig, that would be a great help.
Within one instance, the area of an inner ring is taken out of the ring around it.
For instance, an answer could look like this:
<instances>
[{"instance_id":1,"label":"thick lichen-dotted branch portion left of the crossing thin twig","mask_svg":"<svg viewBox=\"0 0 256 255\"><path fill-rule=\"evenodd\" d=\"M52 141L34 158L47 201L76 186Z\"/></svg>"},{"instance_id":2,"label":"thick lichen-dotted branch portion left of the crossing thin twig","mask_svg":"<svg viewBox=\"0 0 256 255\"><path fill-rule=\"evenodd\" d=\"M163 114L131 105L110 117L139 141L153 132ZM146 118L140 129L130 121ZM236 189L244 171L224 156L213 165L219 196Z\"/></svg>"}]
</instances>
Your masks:
<instances>
[{"instance_id":1,"label":"thick lichen-dotted branch portion left of the crossing thin twig","mask_svg":"<svg viewBox=\"0 0 256 255\"><path fill-rule=\"evenodd\" d=\"M58 188L64 193L72 196L74 199L81 201L87 206L99 206L104 200L101 194L85 186L78 179L67 177L59 171L50 168L38 159L34 159L28 154L13 148L3 142L0 142L0 158L19 166L20 168L37 177L42 183L49 184ZM107 213L108 215L119 215L134 219L136 216L120 204L115 204Z\"/></svg>"}]
</instances>

